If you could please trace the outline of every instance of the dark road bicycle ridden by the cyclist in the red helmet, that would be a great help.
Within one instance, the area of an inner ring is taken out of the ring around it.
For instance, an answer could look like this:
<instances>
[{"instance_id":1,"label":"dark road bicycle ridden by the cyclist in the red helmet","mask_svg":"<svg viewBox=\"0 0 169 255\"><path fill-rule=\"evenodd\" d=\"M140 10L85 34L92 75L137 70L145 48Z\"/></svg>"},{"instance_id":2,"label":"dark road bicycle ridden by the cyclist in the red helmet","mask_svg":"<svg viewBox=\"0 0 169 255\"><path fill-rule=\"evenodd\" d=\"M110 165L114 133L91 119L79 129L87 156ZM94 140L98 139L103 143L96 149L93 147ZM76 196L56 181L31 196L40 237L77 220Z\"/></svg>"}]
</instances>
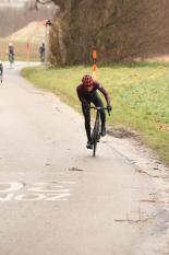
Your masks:
<instances>
[{"instance_id":1,"label":"dark road bicycle ridden by the cyclist in the red helmet","mask_svg":"<svg viewBox=\"0 0 169 255\"><path fill-rule=\"evenodd\" d=\"M101 137L101 125L100 125L100 111L101 109L107 109L107 107L95 107L95 106L90 106L89 108L96 109L96 119L95 119L95 124L94 124L94 128L92 131L92 142L93 142L93 157L96 155L96 149L97 149L97 143L100 140ZM110 116L110 112L108 111L108 114Z\"/></svg>"}]
</instances>

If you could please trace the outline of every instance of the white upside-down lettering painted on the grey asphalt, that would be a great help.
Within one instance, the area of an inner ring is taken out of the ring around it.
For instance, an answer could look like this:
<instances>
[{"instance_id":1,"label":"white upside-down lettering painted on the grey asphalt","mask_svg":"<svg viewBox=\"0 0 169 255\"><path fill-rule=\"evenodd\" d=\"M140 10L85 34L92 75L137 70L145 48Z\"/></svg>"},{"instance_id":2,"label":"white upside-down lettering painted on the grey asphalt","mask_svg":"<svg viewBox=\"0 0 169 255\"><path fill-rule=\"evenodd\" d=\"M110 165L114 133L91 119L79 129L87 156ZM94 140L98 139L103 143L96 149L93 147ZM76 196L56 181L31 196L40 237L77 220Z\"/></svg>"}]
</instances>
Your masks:
<instances>
[{"instance_id":1,"label":"white upside-down lettering painted on the grey asphalt","mask_svg":"<svg viewBox=\"0 0 169 255\"><path fill-rule=\"evenodd\" d=\"M71 196L71 189L67 186L74 184L75 182L0 183L0 201L67 201Z\"/></svg>"}]
</instances>

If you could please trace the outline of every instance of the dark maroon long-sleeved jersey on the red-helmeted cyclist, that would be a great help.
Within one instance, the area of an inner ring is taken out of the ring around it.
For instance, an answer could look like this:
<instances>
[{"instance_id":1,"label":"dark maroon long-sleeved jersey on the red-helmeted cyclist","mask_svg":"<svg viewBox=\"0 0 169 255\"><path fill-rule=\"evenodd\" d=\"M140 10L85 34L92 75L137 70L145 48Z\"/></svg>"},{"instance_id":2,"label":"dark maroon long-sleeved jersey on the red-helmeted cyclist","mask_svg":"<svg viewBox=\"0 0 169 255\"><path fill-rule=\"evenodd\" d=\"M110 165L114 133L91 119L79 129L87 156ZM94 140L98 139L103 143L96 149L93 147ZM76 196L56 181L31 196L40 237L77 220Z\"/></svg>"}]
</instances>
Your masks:
<instances>
[{"instance_id":1,"label":"dark maroon long-sleeved jersey on the red-helmeted cyclist","mask_svg":"<svg viewBox=\"0 0 169 255\"><path fill-rule=\"evenodd\" d=\"M96 95L97 90L99 90L104 94L107 101L107 104L110 105L110 98L109 98L107 91L98 82L94 81L92 91L85 90L83 83L81 83L76 88L79 98L84 104L93 101L93 97Z\"/></svg>"}]
</instances>

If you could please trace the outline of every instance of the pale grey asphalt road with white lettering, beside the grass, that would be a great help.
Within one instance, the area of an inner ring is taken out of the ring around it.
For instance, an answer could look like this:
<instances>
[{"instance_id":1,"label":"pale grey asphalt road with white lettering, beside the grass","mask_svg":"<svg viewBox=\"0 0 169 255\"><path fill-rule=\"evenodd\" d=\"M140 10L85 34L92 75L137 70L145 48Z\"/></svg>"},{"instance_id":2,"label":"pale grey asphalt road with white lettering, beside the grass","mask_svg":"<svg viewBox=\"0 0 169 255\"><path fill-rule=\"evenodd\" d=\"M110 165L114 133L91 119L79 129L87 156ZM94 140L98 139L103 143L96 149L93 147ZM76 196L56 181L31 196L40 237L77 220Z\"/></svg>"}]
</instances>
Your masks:
<instances>
[{"instance_id":1,"label":"pale grey asphalt road with white lettering, beside the grass","mask_svg":"<svg viewBox=\"0 0 169 255\"><path fill-rule=\"evenodd\" d=\"M156 193L83 118L4 67L0 86L0 255L134 255L158 212Z\"/></svg>"}]
</instances>

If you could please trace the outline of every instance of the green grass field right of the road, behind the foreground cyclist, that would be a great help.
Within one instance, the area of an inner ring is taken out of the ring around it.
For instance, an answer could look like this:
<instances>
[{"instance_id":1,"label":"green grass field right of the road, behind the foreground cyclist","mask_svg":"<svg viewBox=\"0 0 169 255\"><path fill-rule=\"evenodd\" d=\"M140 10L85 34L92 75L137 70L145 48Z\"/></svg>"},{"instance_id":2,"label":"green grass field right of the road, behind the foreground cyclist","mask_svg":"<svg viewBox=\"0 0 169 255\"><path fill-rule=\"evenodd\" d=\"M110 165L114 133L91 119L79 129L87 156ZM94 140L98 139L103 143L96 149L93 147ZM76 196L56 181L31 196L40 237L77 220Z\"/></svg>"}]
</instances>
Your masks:
<instances>
[{"instance_id":1,"label":"green grass field right of the road, behind the foreground cyclist","mask_svg":"<svg viewBox=\"0 0 169 255\"><path fill-rule=\"evenodd\" d=\"M92 73L92 68L38 67L23 70L23 76L81 111L75 89L87 72ZM137 62L99 67L97 80L112 98L109 124L137 130L143 142L169 162L169 65Z\"/></svg>"}]
</instances>

